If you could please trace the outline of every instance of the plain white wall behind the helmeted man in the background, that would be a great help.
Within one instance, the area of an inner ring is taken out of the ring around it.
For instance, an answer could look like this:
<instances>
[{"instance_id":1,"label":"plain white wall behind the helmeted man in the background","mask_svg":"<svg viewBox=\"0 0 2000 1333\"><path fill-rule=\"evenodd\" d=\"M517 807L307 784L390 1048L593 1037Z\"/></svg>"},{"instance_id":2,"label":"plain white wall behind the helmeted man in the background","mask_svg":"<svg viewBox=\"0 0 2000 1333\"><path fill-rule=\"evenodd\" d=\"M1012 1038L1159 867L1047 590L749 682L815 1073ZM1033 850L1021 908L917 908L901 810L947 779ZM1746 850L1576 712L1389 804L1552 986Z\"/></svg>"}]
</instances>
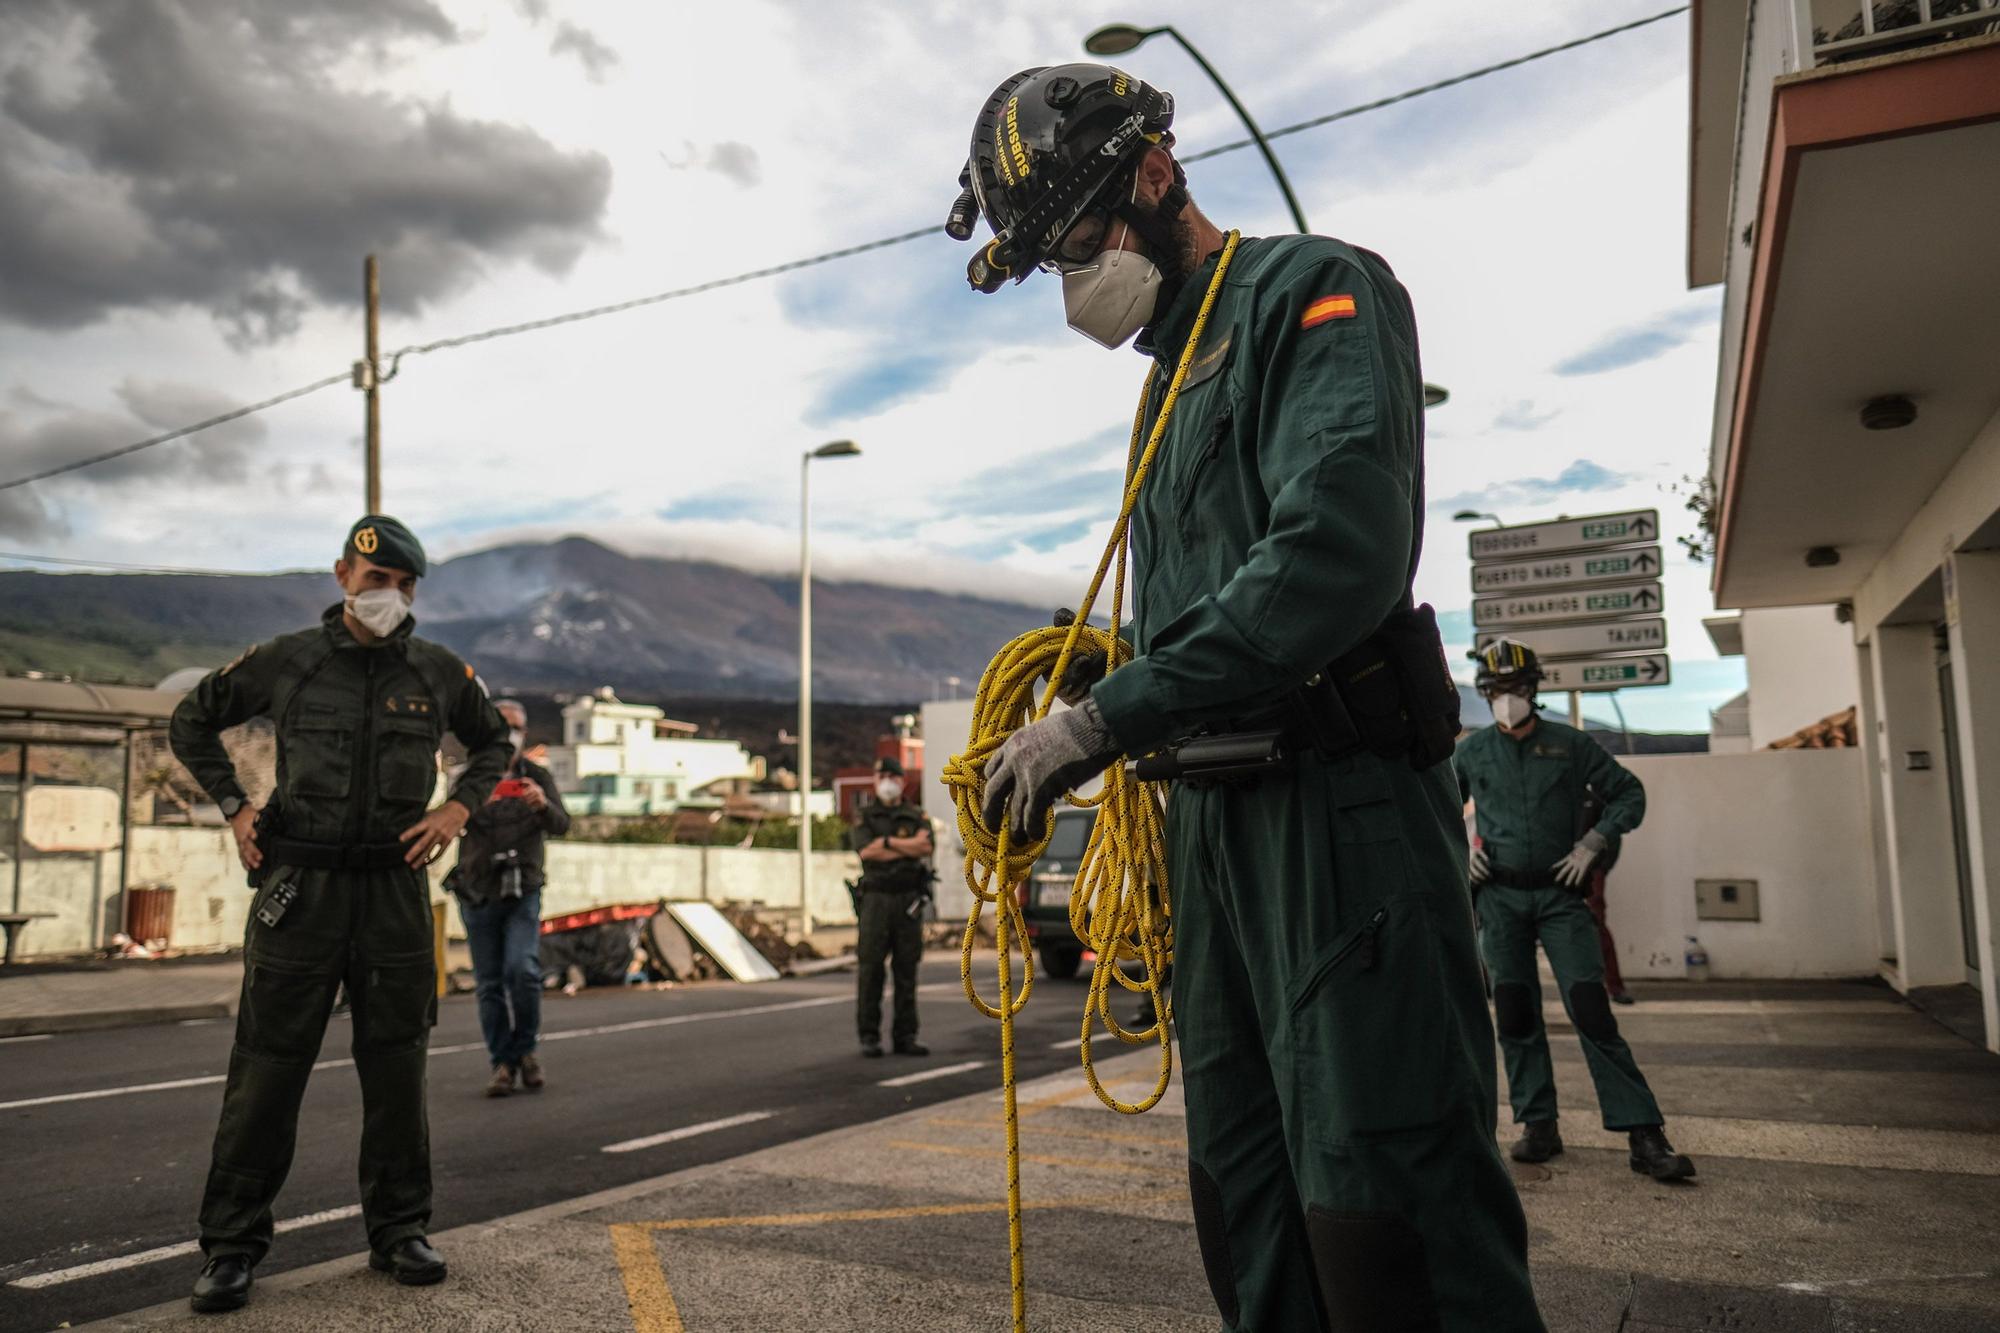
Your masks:
<instances>
[{"instance_id":1,"label":"plain white wall behind the helmeted man in the background","mask_svg":"<svg viewBox=\"0 0 2000 1333\"><path fill-rule=\"evenodd\" d=\"M1874 849L1860 751L1622 759L1646 823L1612 871L1628 977L1680 977L1700 937L1714 977L1872 977ZM1754 879L1762 921L1696 921L1696 879Z\"/></svg>"}]
</instances>

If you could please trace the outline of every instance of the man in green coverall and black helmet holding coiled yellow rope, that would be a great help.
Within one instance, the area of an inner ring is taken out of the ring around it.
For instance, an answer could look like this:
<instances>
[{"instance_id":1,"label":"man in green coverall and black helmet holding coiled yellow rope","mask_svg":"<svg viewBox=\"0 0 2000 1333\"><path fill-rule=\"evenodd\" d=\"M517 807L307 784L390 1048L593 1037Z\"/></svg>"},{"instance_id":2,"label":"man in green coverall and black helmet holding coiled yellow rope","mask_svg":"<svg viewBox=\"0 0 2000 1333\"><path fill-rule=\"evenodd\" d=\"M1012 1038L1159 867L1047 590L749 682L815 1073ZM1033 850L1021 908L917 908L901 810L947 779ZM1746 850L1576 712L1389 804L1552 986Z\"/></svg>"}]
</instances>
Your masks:
<instances>
[{"instance_id":1,"label":"man in green coverall and black helmet holding coiled yellow rope","mask_svg":"<svg viewBox=\"0 0 2000 1333\"><path fill-rule=\"evenodd\" d=\"M974 286L1050 266L1072 328L1140 334L1148 432L1226 244L1170 118L1108 66L1018 74L946 224L970 234L976 198L996 232ZM1408 606L1422 440L1388 266L1324 236L1242 240L1132 518L1138 656L988 761L986 825L1040 831L1120 757L1294 731L1302 687ZM1442 673L1434 630L1428 652ZM1544 1327L1494 1145L1464 847L1448 767L1406 753L1298 747L1254 785L1172 789L1188 1179L1230 1329Z\"/></svg>"}]
</instances>

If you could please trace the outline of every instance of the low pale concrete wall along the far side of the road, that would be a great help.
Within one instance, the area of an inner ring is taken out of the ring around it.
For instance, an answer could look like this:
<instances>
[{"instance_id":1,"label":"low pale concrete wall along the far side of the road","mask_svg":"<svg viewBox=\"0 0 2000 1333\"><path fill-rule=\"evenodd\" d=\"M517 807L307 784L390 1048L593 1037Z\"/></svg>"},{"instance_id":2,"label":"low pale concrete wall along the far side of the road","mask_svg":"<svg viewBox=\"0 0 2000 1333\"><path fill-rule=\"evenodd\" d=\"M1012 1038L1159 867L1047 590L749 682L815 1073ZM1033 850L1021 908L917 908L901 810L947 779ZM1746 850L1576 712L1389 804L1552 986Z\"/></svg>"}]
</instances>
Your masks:
<instances>
[{"instance_id":1,"label":"low pale concrete wall along the far side of the road","mask_svg":"<svg viewBox=\"0 0 2000 1333\"><path fill-rule=\"evenodd\" d=\"M116 919L116 853L104 879L106 923ZM432 895L444 899L444 871L450 859L432 867ZM854 925L846 883L860 871L848 853L812 855L812 919L816 925ZM236 849L226 829L134 829L132 883L174 887L176 949L242 945L250 919L250 887L236 865ZM736 847L644 847L620 843L550 843L548 889L542 915L582 911L606 903L646 903L650 899L708 899L712 903L758 903L798 911L798 853ZM92 893L76 895L74 913L88 919ZM34 911L48 911L36 907ZM446 917L454 939L464 935L458 913ZM68 929L68 919L40 921L36 927L64 927L22 935L22 957L36 953L80 953L102 941L86 929ZM106 925L108 935L116 925Z\"/></svg>"}]
</instances>

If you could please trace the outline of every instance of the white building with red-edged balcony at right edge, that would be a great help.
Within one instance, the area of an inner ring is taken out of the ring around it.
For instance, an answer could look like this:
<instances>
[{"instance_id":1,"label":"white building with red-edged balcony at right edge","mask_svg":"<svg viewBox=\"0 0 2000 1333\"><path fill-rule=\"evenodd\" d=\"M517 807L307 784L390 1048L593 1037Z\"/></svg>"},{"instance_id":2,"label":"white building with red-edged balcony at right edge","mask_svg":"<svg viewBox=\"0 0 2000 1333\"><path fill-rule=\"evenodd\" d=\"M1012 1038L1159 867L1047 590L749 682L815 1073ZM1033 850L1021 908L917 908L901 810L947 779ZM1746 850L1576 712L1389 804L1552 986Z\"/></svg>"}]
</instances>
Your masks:
<instances>
[{"instance_id":1,"label":"white building with red-edged balcony at right edge","mask_svg":"<svg viewBox=\"0 0 2000 1333\"><path fill-rule=\"evenodd\" d=\"M1872 847L1822 905L1862 899L1882 977L1968 1001L2000 1051L2000 0L1690 22L1688 282L1724 284L1714 592L1744 610L1750 741L1852 673Z\"/></svg>"}]
</instances>

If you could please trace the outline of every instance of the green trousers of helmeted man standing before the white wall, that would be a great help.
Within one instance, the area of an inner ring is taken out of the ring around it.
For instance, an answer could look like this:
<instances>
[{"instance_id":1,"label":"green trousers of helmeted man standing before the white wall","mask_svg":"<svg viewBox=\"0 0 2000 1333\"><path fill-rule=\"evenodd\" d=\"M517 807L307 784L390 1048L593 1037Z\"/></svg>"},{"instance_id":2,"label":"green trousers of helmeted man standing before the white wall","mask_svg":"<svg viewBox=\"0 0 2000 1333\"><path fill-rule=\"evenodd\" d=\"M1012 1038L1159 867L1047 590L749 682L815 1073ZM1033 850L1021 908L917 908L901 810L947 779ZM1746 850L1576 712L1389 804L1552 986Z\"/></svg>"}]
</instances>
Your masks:
<instances>
[{"instance_id":1,"label":"green trousers of helmeted man standing before the white wall","mask_svg":"<svg viewBox=\"0 0 2000 1333\"><path fill-rule=\"evenodd\" d=\"M1556 1069L1548 1059L1542 1025L1542 977L1534 965L1540 939L1556 973L1562 1007L1584 1043L1590 1081L1598 1085L1604 1129L1660 1123L1660 1103L1646 1075L1632 1061L1632 1047L1618 1035L1604 993L1604 951L1598 923L1582 895L1568 889L1480 889L1480 953L1494 983L1494 1025L1506 1057L1508 1099L1514 1123L1556 1119Z\"/></svg>"}]
</instances>

